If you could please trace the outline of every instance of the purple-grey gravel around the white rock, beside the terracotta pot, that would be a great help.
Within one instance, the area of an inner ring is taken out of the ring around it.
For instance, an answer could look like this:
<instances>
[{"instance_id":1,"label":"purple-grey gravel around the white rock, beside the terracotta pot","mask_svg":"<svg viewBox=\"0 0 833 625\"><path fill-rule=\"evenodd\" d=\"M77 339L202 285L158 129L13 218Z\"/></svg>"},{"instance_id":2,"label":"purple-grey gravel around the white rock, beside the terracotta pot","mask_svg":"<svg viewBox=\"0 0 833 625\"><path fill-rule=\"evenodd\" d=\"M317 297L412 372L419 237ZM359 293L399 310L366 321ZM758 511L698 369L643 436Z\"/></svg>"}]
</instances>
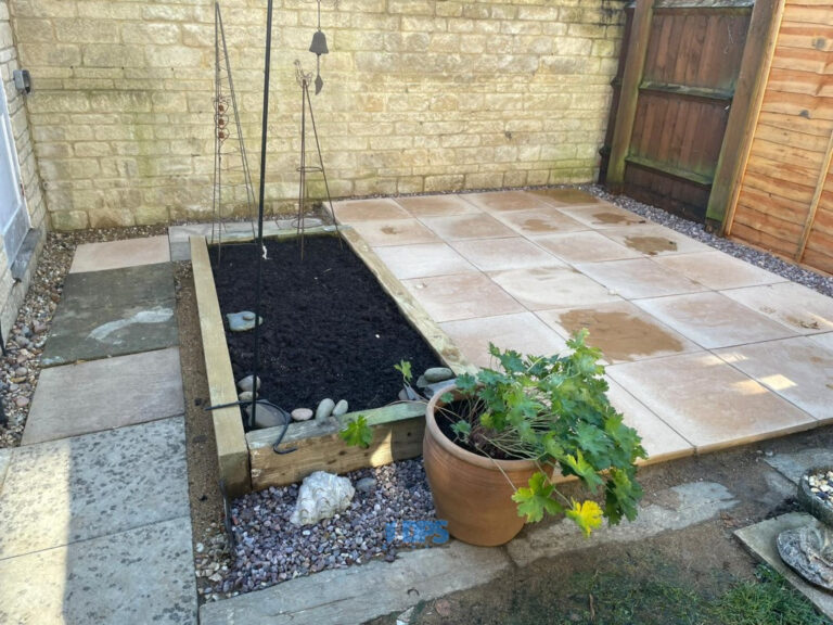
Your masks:
<instances>
[{"instance_id":1,"label":"purple-grey gravel around the white rock, beside the terracotta pot","mask_svg":"<svg viewBox=\"0 0 833 625\"><path fill-rule=\"evenodd\" d=\"M392 562L398 551L414 546L401 538L402 521L434 520L434 500L425 481L422 459L347 473L356 485L372 477L375 485L359 489L345 512L315 525L290 523L298 485L252 493L232 503L233 559L217 559L222 546L197 545L197 577L212 585L201 588L205 599L234 596L272 586L326 569L345 569L369 560ZM395 524L388 540L386 527ZM214 553L213 553L214 551Z\"/></svg>"}]
</instances>

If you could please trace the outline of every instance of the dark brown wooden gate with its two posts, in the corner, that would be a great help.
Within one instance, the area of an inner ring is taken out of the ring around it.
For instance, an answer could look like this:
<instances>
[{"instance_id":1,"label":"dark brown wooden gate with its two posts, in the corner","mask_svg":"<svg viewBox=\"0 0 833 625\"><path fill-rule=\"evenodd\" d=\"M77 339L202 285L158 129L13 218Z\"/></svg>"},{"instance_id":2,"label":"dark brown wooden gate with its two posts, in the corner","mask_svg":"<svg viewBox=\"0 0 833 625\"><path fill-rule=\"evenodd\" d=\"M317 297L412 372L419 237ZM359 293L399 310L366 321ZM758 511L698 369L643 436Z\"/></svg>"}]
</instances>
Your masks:
<instances>
[{"instance_id":1,"label":"dark brown wooden gate with its two posts, in the corner","mask_svg":"<svg viewBox=\"0 0 833 625\"><path fill-rule=\"evenodd\" d=\"M612 191L694 219L725 202L771 0L638 0L629 8L602 151ZM748 44L747 44L748 37Z\"/></svg>"}]
</instances>

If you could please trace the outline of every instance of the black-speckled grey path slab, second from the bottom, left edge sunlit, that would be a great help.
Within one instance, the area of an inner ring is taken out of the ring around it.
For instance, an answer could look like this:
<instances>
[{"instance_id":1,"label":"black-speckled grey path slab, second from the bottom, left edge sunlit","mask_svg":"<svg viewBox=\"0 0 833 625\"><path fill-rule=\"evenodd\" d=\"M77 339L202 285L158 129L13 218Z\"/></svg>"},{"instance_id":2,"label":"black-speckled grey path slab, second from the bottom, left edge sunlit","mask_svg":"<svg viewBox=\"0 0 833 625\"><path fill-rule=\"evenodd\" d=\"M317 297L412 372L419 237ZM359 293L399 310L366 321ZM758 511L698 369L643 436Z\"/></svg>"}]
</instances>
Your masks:
<instances>
[{"instance_id":1,"label":"black-speckled grey path slab, second from the bottom, left edge sunlit","mask_svg":"<svg viewBox=\"0 0 833 625\"><path fill-rule=\"evenodd\" d=\"M0 493L0 560L188 515L181 417L20 447Z\"/></svg>"}]
</instances>

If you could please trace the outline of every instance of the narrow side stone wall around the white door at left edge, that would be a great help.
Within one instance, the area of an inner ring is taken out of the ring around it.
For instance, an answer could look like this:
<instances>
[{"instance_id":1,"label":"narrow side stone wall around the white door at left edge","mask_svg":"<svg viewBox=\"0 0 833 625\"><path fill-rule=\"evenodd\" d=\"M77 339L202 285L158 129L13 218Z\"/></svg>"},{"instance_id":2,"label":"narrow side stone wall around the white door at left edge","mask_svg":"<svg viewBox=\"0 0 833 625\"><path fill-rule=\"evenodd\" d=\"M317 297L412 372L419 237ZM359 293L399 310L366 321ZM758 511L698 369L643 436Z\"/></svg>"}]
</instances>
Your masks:
<instances>
[{"instance_id":1,"label":"narrow side stone wall around the white door at left edge","mask_svg":"<svg viewBox=\"0 0 833 625\"><path fill-rule=\"evenodd\" d=\"M0 328L5 341L9 329L17 316L17 310L23 304L23 298L28 289L28 282L35 269L35 259L42 246L42 231L44 229L46 203L38 176L38 165L33 151L33 142L29 133L29 123L26 115L25 97L14 88L12 72L18 68L17 51L14 46L12 26L9 22L9 4L7 0L0 0L0 80L5 91L5 99L11 118L12 135L14 136L17 161L20 164L20 179L23 183L24 201L29 213L30 226L41 231L40 242L35 254L30 256L28 266L22 270L18 281L12 278L10 259L0 237Z\"/></svg>"}]
</instances>

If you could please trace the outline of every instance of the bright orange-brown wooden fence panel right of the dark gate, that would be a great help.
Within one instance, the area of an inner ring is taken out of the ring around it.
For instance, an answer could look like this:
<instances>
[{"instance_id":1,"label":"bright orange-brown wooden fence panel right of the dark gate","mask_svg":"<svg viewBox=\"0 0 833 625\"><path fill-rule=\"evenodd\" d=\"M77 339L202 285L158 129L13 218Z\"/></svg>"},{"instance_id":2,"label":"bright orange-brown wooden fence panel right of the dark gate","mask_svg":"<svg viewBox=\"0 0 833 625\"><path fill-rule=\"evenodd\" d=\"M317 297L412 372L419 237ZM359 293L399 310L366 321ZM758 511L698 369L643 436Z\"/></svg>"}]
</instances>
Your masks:
<instances>
[{"instance_id":1,"label":"bright orange-brown wooden fence panel right of the dark gate","mask_svg":"<svg viewBox=\"0 0 833 625\"><path fill-rule=\"evenodd\" d=\"M833 5L787 0L727 233L833 272Z\"/></svg>"}]
</instances>

